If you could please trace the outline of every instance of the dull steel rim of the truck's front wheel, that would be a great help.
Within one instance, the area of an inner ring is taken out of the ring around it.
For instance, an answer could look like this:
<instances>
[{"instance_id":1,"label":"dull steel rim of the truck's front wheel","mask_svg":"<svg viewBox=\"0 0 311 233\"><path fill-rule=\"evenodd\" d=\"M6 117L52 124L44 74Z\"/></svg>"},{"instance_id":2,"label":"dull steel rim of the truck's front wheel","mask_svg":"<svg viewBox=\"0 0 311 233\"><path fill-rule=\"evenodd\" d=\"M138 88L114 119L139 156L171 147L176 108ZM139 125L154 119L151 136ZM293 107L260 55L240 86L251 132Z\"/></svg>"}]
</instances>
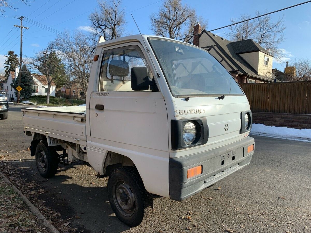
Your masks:
<instances>
[{"instance_id":1,"label":"dull steel rim of the truck's front wheel","mask_svg":"<svg viewBox=\"0 0 311 233\"><path fill-rule=\"evenodd\" d=\"M131 187L123 180L117 180L114 182L113 199L119 212L126 217L133 215L136 200Z\"/></svg>"}]
</instances>

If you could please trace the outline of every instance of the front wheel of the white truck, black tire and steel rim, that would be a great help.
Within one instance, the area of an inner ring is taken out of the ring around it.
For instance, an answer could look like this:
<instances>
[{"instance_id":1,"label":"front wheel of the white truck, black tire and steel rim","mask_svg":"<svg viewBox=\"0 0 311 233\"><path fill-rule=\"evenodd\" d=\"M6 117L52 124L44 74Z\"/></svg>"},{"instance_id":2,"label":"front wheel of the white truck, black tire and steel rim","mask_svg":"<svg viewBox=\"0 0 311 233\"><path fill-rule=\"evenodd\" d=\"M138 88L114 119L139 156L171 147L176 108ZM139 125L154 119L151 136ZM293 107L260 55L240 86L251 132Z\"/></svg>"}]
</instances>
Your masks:
<instances>
[{"instance_id":1,"label":"front wheel of the white truck, black tire and steel rim","mask_svg":"<svg viewBox=\"0 0 311 233\"><path fill-rule=\"evenodd\" d=\"M107 186L111 208L122 222L138 226L147 219L153 208L153 199L134 167L119 167L114 170Z\"/></svg>"}]
</instances>

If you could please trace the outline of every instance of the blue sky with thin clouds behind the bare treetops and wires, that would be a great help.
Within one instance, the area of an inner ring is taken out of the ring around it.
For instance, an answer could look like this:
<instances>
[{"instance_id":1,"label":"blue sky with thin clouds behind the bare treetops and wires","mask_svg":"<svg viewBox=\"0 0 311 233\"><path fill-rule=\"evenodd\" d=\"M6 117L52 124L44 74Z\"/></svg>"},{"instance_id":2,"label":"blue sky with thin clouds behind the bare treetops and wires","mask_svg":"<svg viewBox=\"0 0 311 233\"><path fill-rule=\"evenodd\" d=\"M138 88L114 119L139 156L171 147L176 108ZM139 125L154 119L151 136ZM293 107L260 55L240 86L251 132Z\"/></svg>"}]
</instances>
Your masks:
<instances>
[{"instance_id":1,"label":"blue sky with thin clouds behind the bare treetops and wires","mask_svg":"<svg viewBox=\"0 0 311 233\"><path fill-rule=\"evenodd\" d=\"M20 24L20 21L17 19L19 16L26 16L58 31L63 31L64 29L88 30L88 15L97 6L97 1L95 0L35 0L30 3L30 6L18 0L12 0L11 2L17 9L5 8L6 12L0 14L0 71L3 70L4 55L8 50L14 50L18 55L20 53L20 29L13 27L15 24ZM156 12L162 2L159 0L123 0L122 5L127 13L126 34L138 34L130 13L133 14L143 34L152 34L149 15ZM262 0L256 2L246 0L184 0L183 2L195 8L198 16L206 18L208 20L208 30L212 30L230 24L230 18L238 17L240 14L248 13L251 16L255 16L257 10L260 12L266 10L268 12L274 11L300 3L302 0ZM81 16L71 19L78 15ZM286 30L284 34L286 40L280 44L279 48L284 49L286 56L281 64L273 62L273 68L281 71L284 70L285 61L291 62L295 58L311 59L311 3L277 12L272 14L271 18L276 20L282 16L284 16L285 20ZM30 27L23 34L23 56L32 57L35 51L44 49L47 43L56 37L56 34L31 25L26 21L24 21L23 26ZM218 30L214 33L224 36L225 30Z\"/></svg>"}]
</instances>

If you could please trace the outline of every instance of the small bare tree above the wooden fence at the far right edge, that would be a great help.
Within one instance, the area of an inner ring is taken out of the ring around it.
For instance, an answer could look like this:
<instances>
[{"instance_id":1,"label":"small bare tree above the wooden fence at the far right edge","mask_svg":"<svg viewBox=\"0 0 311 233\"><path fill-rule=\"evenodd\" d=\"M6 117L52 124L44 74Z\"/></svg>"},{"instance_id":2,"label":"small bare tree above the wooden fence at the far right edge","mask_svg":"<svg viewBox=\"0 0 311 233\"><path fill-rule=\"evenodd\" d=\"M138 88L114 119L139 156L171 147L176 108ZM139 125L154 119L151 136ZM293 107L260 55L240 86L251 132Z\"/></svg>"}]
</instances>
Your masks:
<instances>
[{"instance_id":1,"label":"small bare tree above the wooden fence at the far right edge","mask_svg":"<svg viewBox=\"0 0 311 233\"><path fill-rule=\"evenodd\" d=\"M294 74L287 74L287 80L296 82L296 81L311 81L311 60L306 58L301 58L292 63L292 66L295 67Z\"/></svg>"}]
</instances>

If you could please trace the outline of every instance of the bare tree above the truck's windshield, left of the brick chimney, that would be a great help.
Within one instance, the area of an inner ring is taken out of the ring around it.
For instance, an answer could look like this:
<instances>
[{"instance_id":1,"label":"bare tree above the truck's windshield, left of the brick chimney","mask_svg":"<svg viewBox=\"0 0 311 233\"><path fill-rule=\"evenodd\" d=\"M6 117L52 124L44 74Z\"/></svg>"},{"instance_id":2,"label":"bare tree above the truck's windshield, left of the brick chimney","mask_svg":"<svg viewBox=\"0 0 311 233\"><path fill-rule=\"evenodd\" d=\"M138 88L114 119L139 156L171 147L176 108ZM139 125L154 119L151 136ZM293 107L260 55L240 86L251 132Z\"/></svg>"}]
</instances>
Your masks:
<instances>
[{"instance_id":1,"label":"bare tree above the truck's windshield, left of the brick chimney","mask_svg":"<svg viewBox=\"0 0 311 233\"><path fill-rule=\"evenodd\" d=\"M151 30L156 35L180 39L193 34L193 26L200 21L202 28L207 28L207 21L197 17L196 11L183 4L181 0L166 0L159 12L150 16ZM191 42L191 38L184 39Z\"/></svg>"}]
</instances>

